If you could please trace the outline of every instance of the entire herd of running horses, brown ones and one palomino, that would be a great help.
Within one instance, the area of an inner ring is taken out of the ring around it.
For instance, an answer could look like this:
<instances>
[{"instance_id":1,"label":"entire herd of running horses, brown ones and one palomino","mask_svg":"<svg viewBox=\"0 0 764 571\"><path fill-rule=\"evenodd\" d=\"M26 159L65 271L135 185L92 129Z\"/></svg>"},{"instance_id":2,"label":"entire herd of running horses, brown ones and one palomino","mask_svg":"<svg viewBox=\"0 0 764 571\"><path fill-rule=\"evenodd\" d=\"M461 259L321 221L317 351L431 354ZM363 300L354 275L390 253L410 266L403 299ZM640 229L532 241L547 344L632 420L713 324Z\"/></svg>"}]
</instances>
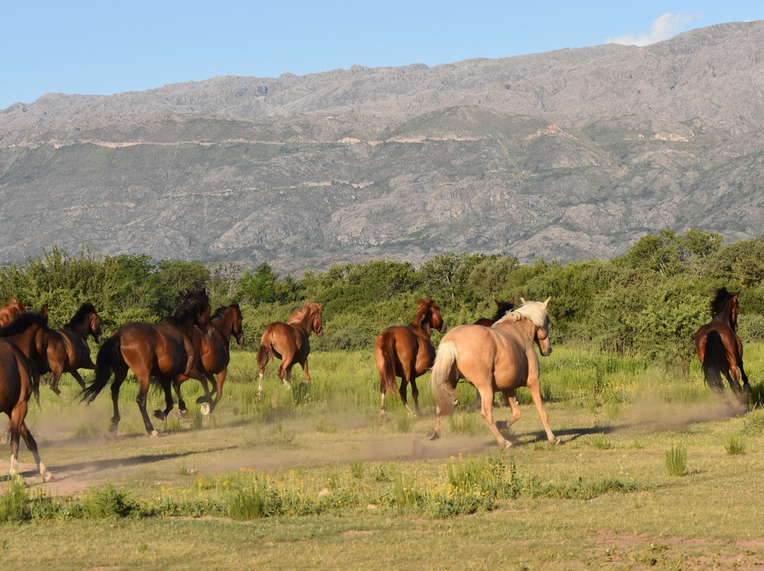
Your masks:
<instances>
[{"instance_id":1,"label":"entire herd of running horses, brown ones and one palomino","mask_svg":"<svg viewBox=\"0 0 764 571\"><path fill-rule=\"evenodd\" d=\"M388 327L374 344L382 396L380 422L385 421L384 400L388 391L398 392L408 414L420 414L416 379L430 371L437 418L435 427L427 434L429 440L440 437L443 417L458 404L457 383L466 379L477 390L481 416L500 447L512 446L500 429L520 418L515 399L515 391L520 387L527 387L533 396L549 442L558 443L542 404L539 358L534 348L536 345L542 356L552 353L549 299L526 302L521 298L520 308L514 308L514 299L496 302L497 314L493 319L459 325L448 333L435 300L419 300L411 324ZM265 328L257 351L258 399L263 392L265 367L274 358L281 361L277 376L285 386L290 386L292 367L298 363L303 367L304 382L309 381L309 336L323 334L321 308L319 303L307 302L286 323L276 322ZM743 344L737 335L738 312L738 294L718 289L711 303L711 321L698 329L695 346L708 386L714 392L723 393L724 376L734 395L745 403L751 386L743 369ZM231 337L240 345L244 343L239 306L222 307L211 315L209 298L203 291L187 293L175 313L157 323L131 321L118 327L99 347L95 363L90 357L88 337L99 344L102 333L101 320L91 304L83 304L61 329L49 329L47 321L47 306L28 311L23 302L11 298L0 307L0 411L9 418L6 433L0 440L10 441L11 476L18 476L18 444L23 438L44 482L53 481L53 475L40 460L37 443L24 420L31 395L39 402L40 376L47 375L46 384L60 395L60 377L70 373L82 387L79 397L83 402L92 402L112 379L114 415L109 431L115 433L120 421L119 390L128 371L132 371L138 380L136 402L147 434L156 436L146 410L151 379L159 382L166 404L163 410L154 411L155 417L167 418L173 409L173 388L179 413L187 415L180 386L192 378L202 383L204 395L197 399L197 404L202 405L202 414L208 415L222 396ZM430 339L433 328L445 333L437 351ZM86 385L78 369L94 369L92 382ZM414 411L407 400L409 385ZM509 421L494 423L495 392L500 392L510 406Z\"/></svg>"}]
</instances>

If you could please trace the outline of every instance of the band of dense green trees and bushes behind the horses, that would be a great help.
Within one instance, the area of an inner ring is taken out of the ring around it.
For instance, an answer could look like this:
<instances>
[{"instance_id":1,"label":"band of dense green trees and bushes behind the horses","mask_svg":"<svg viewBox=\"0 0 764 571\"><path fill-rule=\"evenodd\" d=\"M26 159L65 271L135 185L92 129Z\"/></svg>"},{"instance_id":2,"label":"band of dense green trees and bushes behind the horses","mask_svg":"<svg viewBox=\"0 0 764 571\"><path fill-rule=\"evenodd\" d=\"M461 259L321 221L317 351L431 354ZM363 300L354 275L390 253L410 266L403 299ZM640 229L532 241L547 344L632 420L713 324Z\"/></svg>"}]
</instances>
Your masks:
<instances>
[{"instance_id":1,"label":"band of dense green trees and bushes behind the horses","mask_svg":"<svg viewBox=\"0 0 764 571\"><path fill-rule=\"evenodd\" d=\"M623 256L574 263L520 264L510 255L443 253L415 267L371 260L332 266L299 278L269 263L241 272L233 263L99 256L59 247L25 263L0 268L0 299L31 308L47 304L60 327L91 302L108 334L127 321L171 315L183 293L206 289L212 309L237 302L247 347L265 326L285 321L305 301L323 304L324 337L314 350L371 350L379 331L408 324L416 300L434 298L449 327L492 317L494 300L543 300L550 295L555 343L642 354L684 366L694 355L694 332L710 320L715 289L740 292L740 334L764 340L764 241L724 244L696 229L647 234ZM435 335L437 337L437 335ZM435 339L437 341L437 339Z\"/></svg>"}]
</instances>

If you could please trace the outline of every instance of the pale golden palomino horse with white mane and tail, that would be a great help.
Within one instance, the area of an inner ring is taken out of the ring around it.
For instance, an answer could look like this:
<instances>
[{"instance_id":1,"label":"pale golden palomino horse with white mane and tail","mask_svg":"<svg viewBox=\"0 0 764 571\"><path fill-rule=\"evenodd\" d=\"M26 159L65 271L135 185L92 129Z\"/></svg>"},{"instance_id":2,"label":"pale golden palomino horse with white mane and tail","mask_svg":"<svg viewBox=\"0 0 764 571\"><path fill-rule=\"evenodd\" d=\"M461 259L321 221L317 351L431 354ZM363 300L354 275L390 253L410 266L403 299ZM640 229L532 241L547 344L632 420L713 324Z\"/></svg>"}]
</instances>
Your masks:
<instances>
[{"instance_id":1,"label":"pale golden palomino horse with white mane and tail","mask_svg":"<svg viewBox=\"0 0 764 571\"><path fill-rule=\"evenodd\" d=\"M493 327L461 325L443 337L430 377L432 392L438 403L438 420L435 428L427 434L429 440L440 437L443 415L452 411L456 382L461 374L480 392L481 415L499 446L510 448L512 443L494 425L491 412L494 392L501 391L510 403L512 418L506 424L506 427L510 427L520 418L515 389L521 386L528 387L533 395L533 402L539 410L549 442L558 441L549 428L542 405L539 357L533 349L536 343L543 356L552 353L549 314L546 312L549 299L543 303L526 302L523 299L523 307L510 311Z\"/></svg>"}]
</instances>

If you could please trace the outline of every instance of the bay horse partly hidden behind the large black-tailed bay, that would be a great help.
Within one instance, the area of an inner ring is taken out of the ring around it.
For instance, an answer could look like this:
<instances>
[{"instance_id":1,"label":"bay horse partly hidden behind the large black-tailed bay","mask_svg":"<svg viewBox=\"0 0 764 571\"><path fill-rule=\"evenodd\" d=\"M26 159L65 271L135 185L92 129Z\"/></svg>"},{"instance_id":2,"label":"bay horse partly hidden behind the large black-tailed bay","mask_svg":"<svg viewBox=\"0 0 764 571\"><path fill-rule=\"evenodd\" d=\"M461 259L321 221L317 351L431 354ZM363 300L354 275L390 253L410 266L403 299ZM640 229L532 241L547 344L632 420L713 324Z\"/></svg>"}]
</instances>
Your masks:
<instances>
[{"instance_id":1,"label":"bay horse partly hidden behind the large black-tailed bay","mask_svg":"<svg viewBox=\"0 0 764 571\"><path fill-rule=\"evenodd\" d=\"M220 398L223 395L223 383L228 373L228 360L231 353L231 336L236 337L236 342L241 345L244 343L244 331L241 330L241 309L238 304L228 305L228 307L219 308L215 315L210 319L212 323L212 337L205 337L198 328L193 330L193 350L198 362L196 370L202 373L202 387L205 396L200 396L196 400L197 405L202 405L202 414L209 415L215 410ZM215 380L215 375L218 376ZM175 392L178 395L178 409L181 415L188 414L186 403L180 395L180 385L190 377L179 375L175 379ZM207 381L212 383L212 393L209 391ZM212 400L212 394L215 400Z\"/></svg>"}]
</instances>

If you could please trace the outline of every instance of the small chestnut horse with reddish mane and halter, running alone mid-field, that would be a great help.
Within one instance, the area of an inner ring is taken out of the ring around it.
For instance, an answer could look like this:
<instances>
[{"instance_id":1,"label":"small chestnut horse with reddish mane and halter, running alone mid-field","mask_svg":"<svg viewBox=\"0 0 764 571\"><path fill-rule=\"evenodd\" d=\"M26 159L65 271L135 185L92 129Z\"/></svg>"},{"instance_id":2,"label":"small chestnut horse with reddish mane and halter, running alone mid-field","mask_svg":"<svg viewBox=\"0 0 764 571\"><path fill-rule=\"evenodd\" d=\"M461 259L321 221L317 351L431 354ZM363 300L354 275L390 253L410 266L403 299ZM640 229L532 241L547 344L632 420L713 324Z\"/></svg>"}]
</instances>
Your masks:
<instances>
[{"instance_id":1,"label":"small chestnut horse with reddish mane and halter, running alone mid-field","mask_svg":"<svg viewBox=\"0 0 764 571\"><path fill-rule=\"evenodd\" d=\"M257 388L257 399L263 395L263 374L268 361L275 357L281 360L276 374L287 387L292 386L292 366L299 363L303 366L305 381L310 380L308 373L308 353L310 344L308 337L312 332L321 337L324 330L321 324L320 303L306 302L286 323L277 321L265 327L257 350L257 366L260 367L260 386Z\"/></svg>"}]
</instances>

